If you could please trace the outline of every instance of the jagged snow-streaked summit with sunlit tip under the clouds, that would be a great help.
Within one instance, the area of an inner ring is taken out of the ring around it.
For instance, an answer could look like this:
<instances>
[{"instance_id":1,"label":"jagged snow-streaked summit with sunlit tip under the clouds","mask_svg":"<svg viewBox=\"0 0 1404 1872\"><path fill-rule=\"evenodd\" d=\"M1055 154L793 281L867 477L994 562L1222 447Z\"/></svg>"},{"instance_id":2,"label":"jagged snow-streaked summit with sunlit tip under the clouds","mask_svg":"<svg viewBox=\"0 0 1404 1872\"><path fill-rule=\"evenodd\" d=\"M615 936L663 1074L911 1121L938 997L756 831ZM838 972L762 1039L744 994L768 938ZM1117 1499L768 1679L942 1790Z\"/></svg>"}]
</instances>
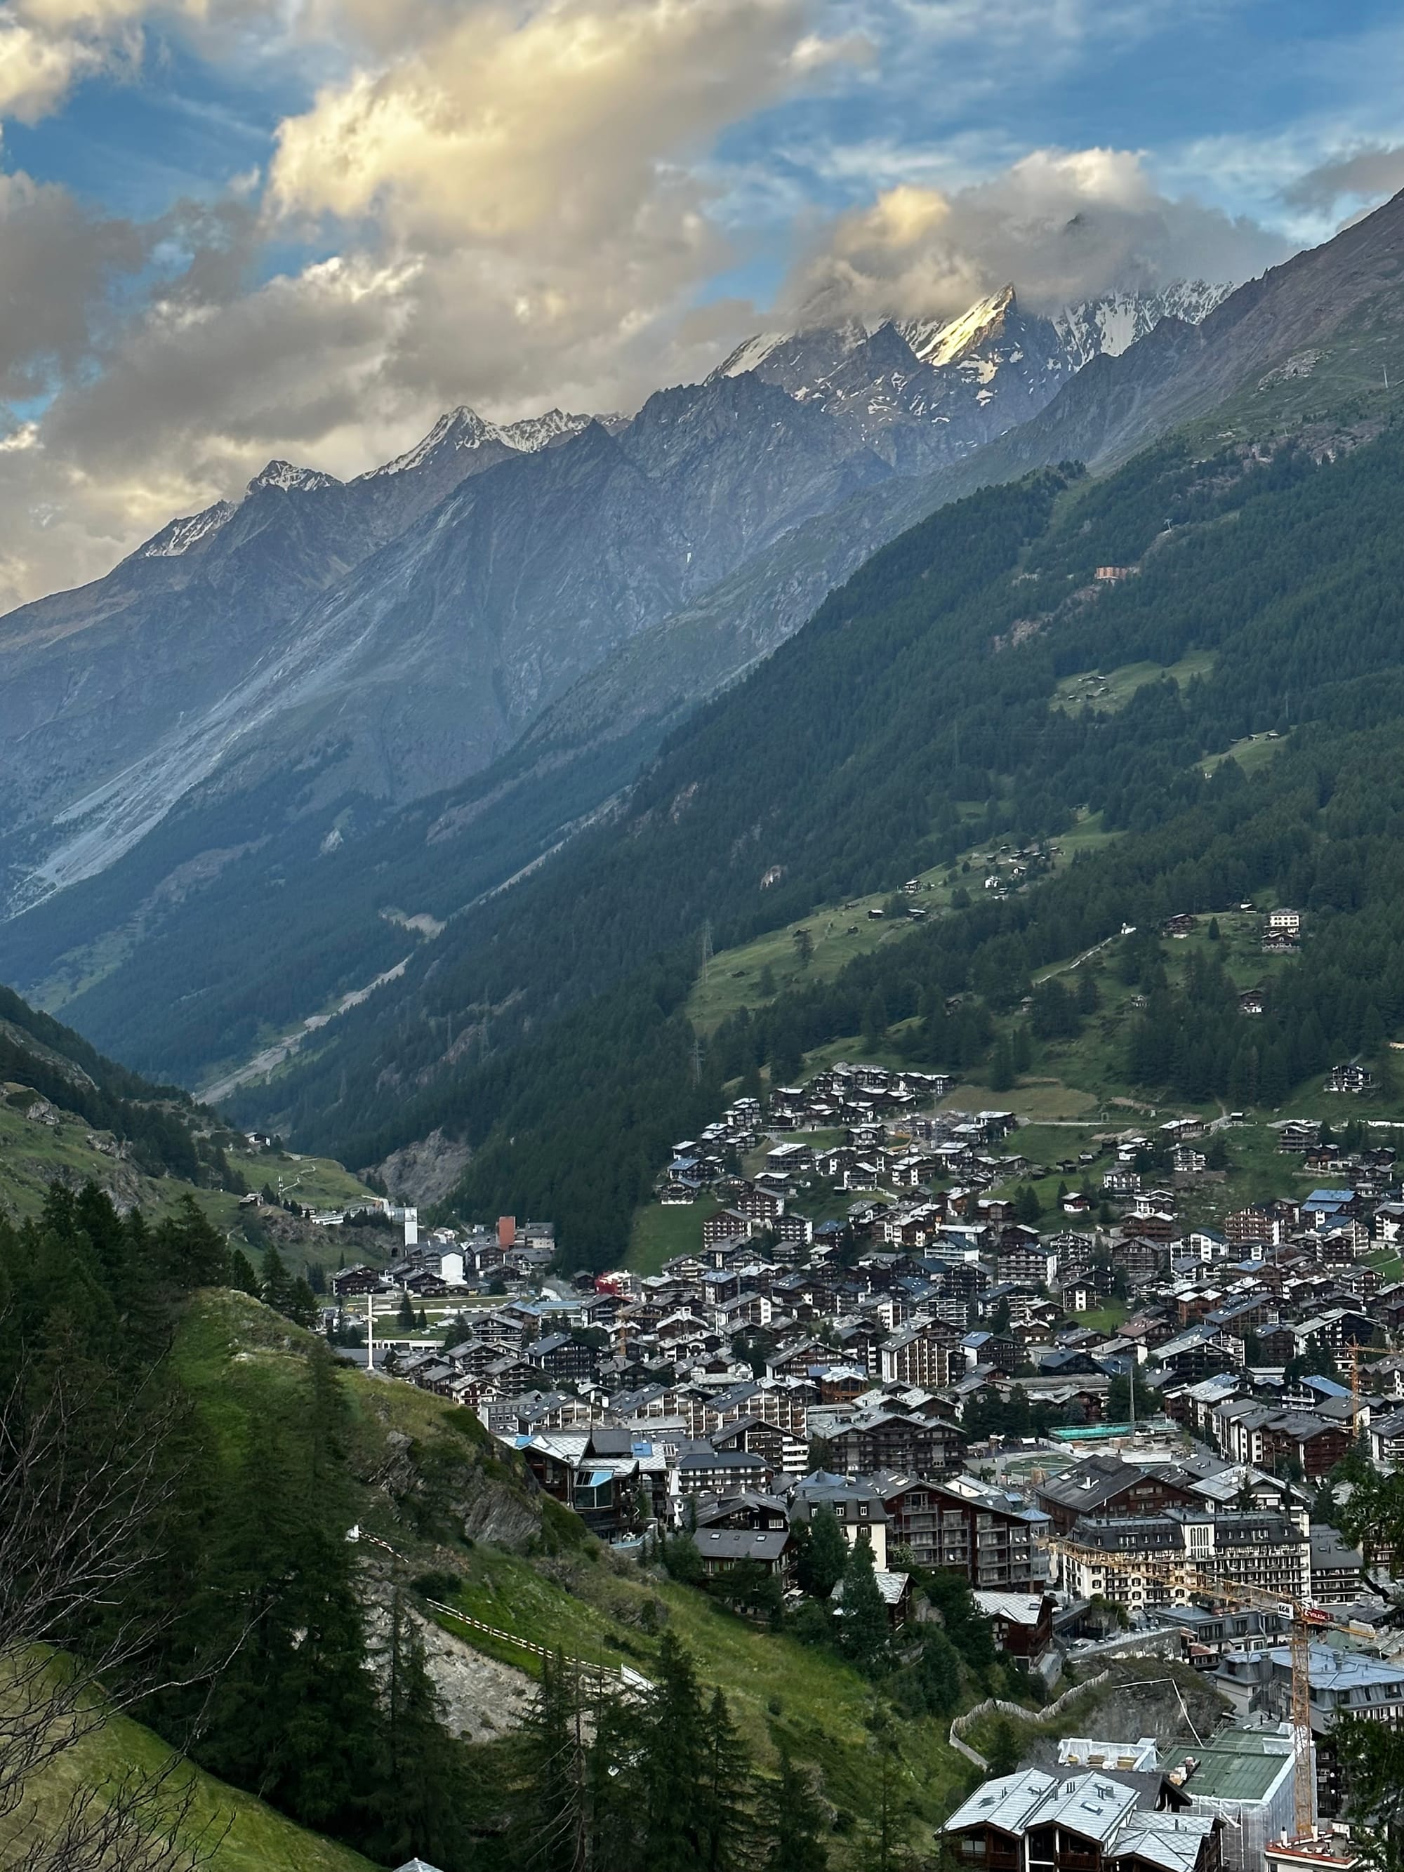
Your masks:
<instances>
[{"instance_id":1,"label":"jagged snow-streaked summit with sunlit tip under the clouds","mask_svg":"<svg viewBox=\"0 0 1404 1872\"><path fill-rule=\"evenodd\" d=\"M1230 286L1191 281L1114 292L1052 316L1028 313L1013 285L957 318L764 331L713 376L754 373L852 429L900 474L960 461L1037 416L1091 358L1119 356L1163 320L1194 324Z\"/></svg>"}]
</instances>

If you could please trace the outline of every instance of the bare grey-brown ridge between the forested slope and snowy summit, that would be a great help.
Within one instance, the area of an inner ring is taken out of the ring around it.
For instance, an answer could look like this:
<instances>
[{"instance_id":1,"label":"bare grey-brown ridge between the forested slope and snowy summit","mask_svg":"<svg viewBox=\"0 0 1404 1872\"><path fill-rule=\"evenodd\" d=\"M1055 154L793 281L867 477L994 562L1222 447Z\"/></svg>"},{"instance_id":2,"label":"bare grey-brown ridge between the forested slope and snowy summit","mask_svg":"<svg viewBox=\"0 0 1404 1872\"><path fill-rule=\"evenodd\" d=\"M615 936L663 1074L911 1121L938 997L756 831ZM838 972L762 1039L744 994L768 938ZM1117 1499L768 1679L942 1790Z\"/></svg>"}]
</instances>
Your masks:
<instances>
[{"instance_id":1,"label":"bare grey-brown ridge between the forested slope and snowy summit","mask_svg":"<svg viewBox=\"0 0 1404 1872\"><path fill-rule=\"evenodd\" d=\"M775 650L874 550L981 485L1061 461L1104 470L1230 397L1241 402L1232 421L1247 438L1301 427L1318 410L1368 412L1404 324L1402 264L1398 197L1219 303L1215 288L1170 300L1148 329L1125 298L1061 314L1073 356L1086 324L1101 329L1101 350L1037 416L958 462L887 481L822 524L796 528L601 663L534 724L526 745L548 758L590 736L635 734L648 719L672 723L691 698ZM1136 335L1123 346L1129 331ZM1292 386L1299 393L1284 397Z\"/></svg>"}]
</instances>

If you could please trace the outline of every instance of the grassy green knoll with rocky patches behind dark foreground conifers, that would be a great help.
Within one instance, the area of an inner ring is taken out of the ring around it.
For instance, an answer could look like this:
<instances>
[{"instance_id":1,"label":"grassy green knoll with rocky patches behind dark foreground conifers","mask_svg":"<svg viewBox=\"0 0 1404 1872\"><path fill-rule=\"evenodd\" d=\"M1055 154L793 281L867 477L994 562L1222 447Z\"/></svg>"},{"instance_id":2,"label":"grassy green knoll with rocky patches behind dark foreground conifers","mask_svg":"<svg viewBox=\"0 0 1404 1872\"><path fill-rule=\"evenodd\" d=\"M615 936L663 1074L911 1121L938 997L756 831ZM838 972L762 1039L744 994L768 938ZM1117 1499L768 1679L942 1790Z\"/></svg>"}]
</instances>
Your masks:
<instances>
[{"instance_id":1,"label":"grassy green knoll with rocky patches behind dark foreground conifers","mask_svg":"<svg viewBox=\"0 0 1404 1872\"><path fill-rule=\"evenodd\" d=\"M305 1348L305 1335L243 1295L202 1294L187 1309L176 1370L230 1462L255 1419L300 1408ZM586 1662L625 1662L644 1675L661 1632L674 1632L696 1659L704 1683L726 1692L764 1767L773 1767L784 1747L820 1771L827 1799L848 1816L841 1829L872 1818L870 1720L885 1702L856 1670L827 1649L736 1617L657 1569L610 1556L573 1516L556 1513L543 1528L520 1470L489 1443L470 1413L354 1370L341 1383L356 1423L348 1455L359 1477L361 1524L391 1543L404 1580L432 1571L434 1597L447 1597L468 1617ZM401 1477L389 1473L397 1449L408 1455L410 1473ZM462 1539L466 1501L479 1529L470 1543ZM513 1531L517 1550L502 1544ZM367 1548L367 1565L391 1563ZM532 1653L436 1616L446 1631L489 1657L539 1670ZM900 1778L917 1844L970 1780L968 1763L945 1741L943 1722L900 1724ZM835 1865L848 1865L842 1831L835 1848Z\"/></svg>"}]
</instances>

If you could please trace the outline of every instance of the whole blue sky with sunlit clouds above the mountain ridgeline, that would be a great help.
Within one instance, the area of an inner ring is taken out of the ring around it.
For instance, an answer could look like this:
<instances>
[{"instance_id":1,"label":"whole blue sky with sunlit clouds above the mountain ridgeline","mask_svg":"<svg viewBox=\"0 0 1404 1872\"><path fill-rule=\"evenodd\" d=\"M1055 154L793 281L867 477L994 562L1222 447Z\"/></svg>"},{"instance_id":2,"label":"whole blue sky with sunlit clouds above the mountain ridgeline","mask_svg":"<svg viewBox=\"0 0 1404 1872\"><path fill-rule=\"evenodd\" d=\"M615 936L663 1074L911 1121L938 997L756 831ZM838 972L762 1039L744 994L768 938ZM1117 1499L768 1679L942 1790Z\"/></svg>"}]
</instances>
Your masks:
<instances>
[{"instance_id":1,"label":"whole blue sky with sunlit clouds above the mountain ridgeline","mask_svg":"<svg viewBox=\"0 0 1404 1872\"><path fill-rule=\"evenodd\" d=\"M1404 185L1400 99L1383 0L11 0L0 599L814 294L1247 277Z\"/></svg>"}]
</instances>

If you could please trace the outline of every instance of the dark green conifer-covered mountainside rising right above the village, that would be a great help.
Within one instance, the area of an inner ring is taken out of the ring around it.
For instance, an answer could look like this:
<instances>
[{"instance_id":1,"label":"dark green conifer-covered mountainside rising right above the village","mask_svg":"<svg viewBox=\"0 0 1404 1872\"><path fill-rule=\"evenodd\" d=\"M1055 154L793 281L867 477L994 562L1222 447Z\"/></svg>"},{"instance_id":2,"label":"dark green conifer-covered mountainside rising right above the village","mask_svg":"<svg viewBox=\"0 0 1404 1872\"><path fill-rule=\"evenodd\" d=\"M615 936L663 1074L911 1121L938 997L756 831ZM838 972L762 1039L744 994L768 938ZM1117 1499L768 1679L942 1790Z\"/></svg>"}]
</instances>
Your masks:
<instances>
[{"instance_id":1,"label":"dark green conifer-covered mountainside rising right above the village","mask_svg":"<svg viewBox=\"0 0 1404 1872\"><path fill-rule=\"evenodd\" d=\"M451 927L419 979L243 1108L277 1099L296 1134L358 1163L444 1125L475 1149L464 1211L554 1215L567 1252L599 1265L670 1140L739 1073L794 1071L874 1007L921 1016L914 1060L979 1065L988 1015L1031 968L1262 887L1329 912L1338 934L1252 1033L1157 1000L1127 1078L1280 1095L1397 1011L1389 958L1370 949L1365 998L1359 960L1400 831L1400 489L1395 429L1337 461L1290 444L1204 457L1172 438L1104 481L1045 470L940 511L681 728L625 816ZM1097 584L1099 565L1138 571ZM1082 670L1189 655L1207 674L1149 681L1118 709L1054 698ZM1209 758L1267 730L1282 753L1250 779ZM695 1046L683 1003L704 923L723 949L979 841L1058 837L1075 814L1123 837ZM1346 973L1340 992L1324 985ZM958 994L958 1016L936 1018Z\"/></svg>"}]
</instances>

